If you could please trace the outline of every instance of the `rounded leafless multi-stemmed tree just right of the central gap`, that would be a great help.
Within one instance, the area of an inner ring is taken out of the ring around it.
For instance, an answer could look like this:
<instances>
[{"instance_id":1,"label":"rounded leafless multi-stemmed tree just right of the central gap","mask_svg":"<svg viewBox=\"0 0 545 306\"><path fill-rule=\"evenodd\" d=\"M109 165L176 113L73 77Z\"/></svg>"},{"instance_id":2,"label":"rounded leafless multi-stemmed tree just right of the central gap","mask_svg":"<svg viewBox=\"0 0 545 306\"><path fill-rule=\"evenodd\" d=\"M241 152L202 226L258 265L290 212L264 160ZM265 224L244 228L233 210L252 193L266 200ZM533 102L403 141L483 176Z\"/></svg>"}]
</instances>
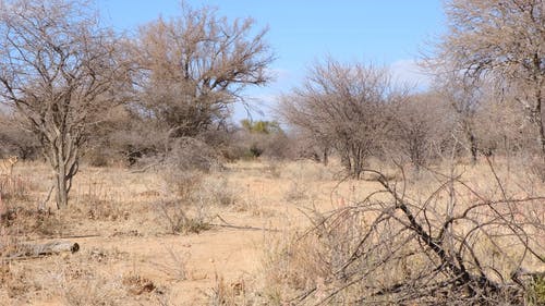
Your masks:
<instances>
[{"instance_id":1,"label":"rounded leafless multi-stemmed tree just right of the central gap","mask_svg":"<svg viewBox=\"0 0 545 306\"><path fill-rule=\"evenodd\" d=\"M391 127L388 105L403 96L386 69L327 59L281 99L279 113L320 143L335 146L350 175L360 178L366 158L380 150Z\"/></svg>"}]
</instances>

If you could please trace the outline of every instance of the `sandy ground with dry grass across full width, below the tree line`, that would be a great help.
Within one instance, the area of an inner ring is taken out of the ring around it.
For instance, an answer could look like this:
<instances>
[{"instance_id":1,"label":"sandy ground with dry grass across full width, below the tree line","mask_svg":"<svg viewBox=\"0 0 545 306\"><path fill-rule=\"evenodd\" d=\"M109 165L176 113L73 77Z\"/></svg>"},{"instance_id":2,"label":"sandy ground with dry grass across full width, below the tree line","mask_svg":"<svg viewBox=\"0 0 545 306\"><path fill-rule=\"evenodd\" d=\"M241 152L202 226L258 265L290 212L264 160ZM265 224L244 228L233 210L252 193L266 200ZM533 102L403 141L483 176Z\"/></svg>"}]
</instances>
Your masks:
<instances>
[{"instance_id":1,"label":"sandy ground with dry grass across full width, below the tree line","mask_svg":"<svg viewBox=\"0 0 545 306\"><path fill-rule=\"evenodd\" d=\"M482 269L506 284L497 301L538 305L543 277L536 276L545 272L545 199L537 197L545 193L543 184L504 161L493 169L481 160L451 169L451 181L439 174L448 164L405 181L395 168L384 171L388 178L364 172L363 180L340 181L342 168L335 160L328 167L238 162L175 179L84 167L70 209L48 203L38 210L49 188L47 169L17 164L1 185L1 301L314 305L475 298L463 285L448 283L448 272L434 269L447 264L393 211L398 194L429 233L436 234L446 217L467 211L452 220L444 245L457 248L467 240L460 255L468 271L479 276ZM511 218L518 230L502 228L501 218ZM13 256L23 244L49 241L75 242L80 250ZM528 273L534 273L533 284ZM522 295L517 278L529 285Z\"/></svg>"}]
</instances>

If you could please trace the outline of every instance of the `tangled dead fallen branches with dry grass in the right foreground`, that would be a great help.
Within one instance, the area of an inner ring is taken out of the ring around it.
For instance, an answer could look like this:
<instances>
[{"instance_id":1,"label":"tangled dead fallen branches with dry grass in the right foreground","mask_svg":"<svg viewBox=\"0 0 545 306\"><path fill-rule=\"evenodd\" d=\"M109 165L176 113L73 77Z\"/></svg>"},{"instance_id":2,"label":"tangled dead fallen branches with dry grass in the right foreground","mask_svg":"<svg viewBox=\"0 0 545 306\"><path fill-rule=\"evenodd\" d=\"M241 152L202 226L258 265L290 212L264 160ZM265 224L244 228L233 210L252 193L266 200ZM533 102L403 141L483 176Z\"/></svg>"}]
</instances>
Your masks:
<instances>
[{"instance_id":1,"label":"tangled dead fallen branches with dry grass in the right foreground","mask_svg":"<svg viewBox=\"0 0 545 306\"><path fill-rule=\"evenodd\" d=\"M510 196L491 171L502 195L451 173L426 196L370 171L382 187L330 213L306 213L312 227L269 256L266 294L278 304L523 303L529 282L512 271L543 262L545 215L534 211L545 197ZM543 283L534 278L532 301Z\"/></svg>"}]
</instances>

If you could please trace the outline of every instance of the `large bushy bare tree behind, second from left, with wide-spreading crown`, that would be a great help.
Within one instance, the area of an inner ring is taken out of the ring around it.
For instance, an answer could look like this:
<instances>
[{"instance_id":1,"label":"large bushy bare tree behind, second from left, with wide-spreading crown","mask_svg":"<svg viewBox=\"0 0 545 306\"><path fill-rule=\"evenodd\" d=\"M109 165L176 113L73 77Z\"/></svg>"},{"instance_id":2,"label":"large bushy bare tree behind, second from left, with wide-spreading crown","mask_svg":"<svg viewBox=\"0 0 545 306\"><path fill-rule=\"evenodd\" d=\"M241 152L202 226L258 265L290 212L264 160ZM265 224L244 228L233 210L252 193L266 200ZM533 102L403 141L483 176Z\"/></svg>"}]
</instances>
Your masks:
<instances>
[{"instance_id":1,"label":"large bushy bare tree behind, second from left, with wide-spreading crown","mask_svg":"<svg viewBox=\"0 0 545 306\"><path fill-rule=\"evenodd\" d=\"M244 101L244 88L270 79L267 29L254 33L251 19L231 22L184 2L181 16L142 26L134 49L140 105L172 137L194 137L221 123L233 102Z\"/></svg>"}]
</instances>

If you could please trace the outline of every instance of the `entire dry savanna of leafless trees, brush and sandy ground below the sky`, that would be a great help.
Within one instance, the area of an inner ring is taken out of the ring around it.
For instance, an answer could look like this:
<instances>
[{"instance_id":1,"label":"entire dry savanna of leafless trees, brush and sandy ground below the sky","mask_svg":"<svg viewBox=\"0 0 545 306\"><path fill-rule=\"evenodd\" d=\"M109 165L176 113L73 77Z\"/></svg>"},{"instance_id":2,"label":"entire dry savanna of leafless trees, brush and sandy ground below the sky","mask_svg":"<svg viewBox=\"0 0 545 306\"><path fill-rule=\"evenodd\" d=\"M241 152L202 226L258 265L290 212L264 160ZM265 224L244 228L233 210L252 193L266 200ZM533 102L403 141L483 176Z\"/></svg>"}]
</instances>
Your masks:
<instances>
[{"instance_id":1,"label":"entire dry savanna of leafless trees, brush and sandy ground below the sky","mask_svg":"<svg viewBox=\"0 0 545 306\"><path fill-rule=\"evenodd\" d=\"M541 0L449 0L414 91L181 3L0 0L1 305L545 305ZM283 131L283 124L290 126Z\"/></svg>"}]
</instances>

